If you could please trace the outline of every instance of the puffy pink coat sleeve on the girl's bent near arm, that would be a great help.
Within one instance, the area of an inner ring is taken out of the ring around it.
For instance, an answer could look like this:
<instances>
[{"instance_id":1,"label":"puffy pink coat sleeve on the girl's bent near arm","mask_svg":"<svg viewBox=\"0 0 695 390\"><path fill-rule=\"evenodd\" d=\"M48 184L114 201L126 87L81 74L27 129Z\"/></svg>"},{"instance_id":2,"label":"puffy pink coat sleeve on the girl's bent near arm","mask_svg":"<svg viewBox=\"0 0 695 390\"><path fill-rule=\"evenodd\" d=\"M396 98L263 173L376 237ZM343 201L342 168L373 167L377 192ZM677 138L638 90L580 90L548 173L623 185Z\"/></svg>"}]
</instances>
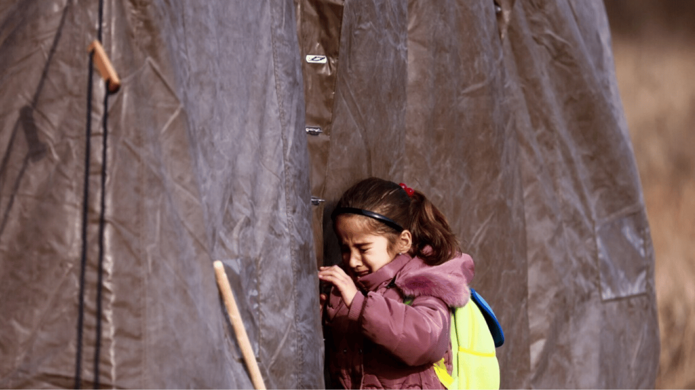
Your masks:
<instances>
[{"instance_id":1,"label":"puffy pink coat sleeve on the girl's bent near arm","mask_svg":"<svg viewBox=\"0 0 695 390\"><path fill-rule=\"evenodd\" d=\"M439 298L419 296L411 305L370 292L357 294L348 317L365 337L409 366L438 362L449 348L449 307Z\"/></svg>"}]
</instances>

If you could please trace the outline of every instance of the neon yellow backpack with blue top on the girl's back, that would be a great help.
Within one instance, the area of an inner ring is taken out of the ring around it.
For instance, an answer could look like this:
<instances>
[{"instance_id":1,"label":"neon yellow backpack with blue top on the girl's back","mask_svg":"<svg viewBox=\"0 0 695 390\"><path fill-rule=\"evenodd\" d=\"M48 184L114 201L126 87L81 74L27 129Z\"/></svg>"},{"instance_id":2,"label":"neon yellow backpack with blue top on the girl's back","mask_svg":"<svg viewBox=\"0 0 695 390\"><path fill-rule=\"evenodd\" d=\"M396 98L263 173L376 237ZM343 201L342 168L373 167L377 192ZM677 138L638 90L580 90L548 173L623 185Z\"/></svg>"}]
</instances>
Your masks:
<instances>
[{"instance_id":1,"label":"neon yellow backpack with blue top on the girl's back","mask_svg":"<svg viewBox=\"0 0 695 390\"><path fill-rule=\"evenodd\" d=\"M451 314L452 374L443 358L434 364L434 372L448 390L498 390L500 365L495 348L504 342L491 307L471 289L471 300Z\"/></svg>"}]
</instances>

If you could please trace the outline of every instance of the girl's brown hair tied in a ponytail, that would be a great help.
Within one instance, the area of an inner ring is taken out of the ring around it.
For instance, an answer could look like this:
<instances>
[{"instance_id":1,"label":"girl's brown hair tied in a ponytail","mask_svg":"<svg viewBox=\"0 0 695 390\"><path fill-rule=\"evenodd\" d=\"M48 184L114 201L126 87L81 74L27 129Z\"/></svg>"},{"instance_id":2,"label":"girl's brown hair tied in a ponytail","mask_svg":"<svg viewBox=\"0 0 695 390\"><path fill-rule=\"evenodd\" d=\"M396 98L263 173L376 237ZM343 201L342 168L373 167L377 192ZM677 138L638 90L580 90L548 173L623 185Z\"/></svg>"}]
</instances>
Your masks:
<instances>
[{"instance_id":1,"label":"girl's brown hair tied in a ponytail","mask_svg":"<svg viewBox=\"0 0 695 390\"><path fill-rule=\"evenodd\" d=\"M345 191L336 209L340 207L377 212L410 230L413 237L412 255L420 257L427 264L441 264L461 253L459 241L444 215L417 190L408 196L396 183L367 178ZM373 232L387 235L389 243L395 244L398 237L395 229L376 219L368 218L368 223Z\"/></svg>"}]
</instances>

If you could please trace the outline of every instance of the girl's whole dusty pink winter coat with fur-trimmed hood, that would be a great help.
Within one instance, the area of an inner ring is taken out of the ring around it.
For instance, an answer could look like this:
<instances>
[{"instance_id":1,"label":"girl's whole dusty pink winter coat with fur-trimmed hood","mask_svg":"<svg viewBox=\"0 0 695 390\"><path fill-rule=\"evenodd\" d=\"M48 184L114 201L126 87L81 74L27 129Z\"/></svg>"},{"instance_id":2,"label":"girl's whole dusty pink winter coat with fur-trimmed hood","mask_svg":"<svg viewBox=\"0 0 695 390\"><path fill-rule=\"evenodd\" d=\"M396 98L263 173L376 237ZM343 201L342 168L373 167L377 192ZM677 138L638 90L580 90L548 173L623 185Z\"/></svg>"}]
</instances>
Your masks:
<instances>
[{"instance_id":1,"label":"girl's whole dusty pink winter coat with fur-trimmed hood","mask_svg":"<svg viewBox=\"0 0 695 390\"><path fill-rule=\"evenodd\" d=\"M443 389L432 364L451 369L449 307L468 302L473 260L438 266L399 255L357 281L362 293L345 306L334 288L324 313L327 365L344 389ZM404 297L412 298L409 305ZM338 383L336 383L338 382Z\"/></svg>"}]
</instances>

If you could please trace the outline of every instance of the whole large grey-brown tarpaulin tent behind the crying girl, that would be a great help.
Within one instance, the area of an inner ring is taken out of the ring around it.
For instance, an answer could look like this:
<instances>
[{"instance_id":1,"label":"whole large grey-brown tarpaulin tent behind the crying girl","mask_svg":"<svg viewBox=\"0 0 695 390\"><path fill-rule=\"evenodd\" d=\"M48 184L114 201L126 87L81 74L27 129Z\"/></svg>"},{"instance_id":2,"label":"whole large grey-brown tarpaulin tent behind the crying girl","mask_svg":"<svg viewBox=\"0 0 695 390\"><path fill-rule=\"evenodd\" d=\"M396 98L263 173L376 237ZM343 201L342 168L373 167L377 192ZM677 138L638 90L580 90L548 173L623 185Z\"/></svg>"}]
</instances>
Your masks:
<instances>
[{"instance_id":1,"label":"whole large grey-brown tarpaulin tent behind the crying girl","mask_svg":"<svg viewBox=\"0 0 695 390\"><path fill-rule=\"evenodd\" d=\"M1 0L0 387L71 388L78 349L91 386L99 345L104 388L250 388L213 260L268 388L322 387L327 214L372 175L429 194L473 255L503 388L653 387L653 251L603 3L496 6L105 1L123 85L102 193L93 83L82 237L99 5Z\"/></svg>"}]
</instances>

